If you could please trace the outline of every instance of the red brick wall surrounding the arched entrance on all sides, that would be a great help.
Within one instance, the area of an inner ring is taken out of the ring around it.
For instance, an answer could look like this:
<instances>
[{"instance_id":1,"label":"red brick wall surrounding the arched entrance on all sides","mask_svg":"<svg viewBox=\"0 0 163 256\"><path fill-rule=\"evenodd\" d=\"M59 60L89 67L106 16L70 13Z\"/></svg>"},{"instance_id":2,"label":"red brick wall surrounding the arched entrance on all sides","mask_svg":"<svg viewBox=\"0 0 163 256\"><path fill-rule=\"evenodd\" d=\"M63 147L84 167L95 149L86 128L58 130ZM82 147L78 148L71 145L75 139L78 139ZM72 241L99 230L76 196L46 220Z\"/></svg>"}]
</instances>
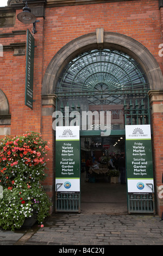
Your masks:
<instances>
[{"instance_id":1,"label":"red brick wall surrounding the arched entrance on all sides","mask_svg":"<svg viewBox=\"0 0 163 256\"><path fill-rule=\"evenodd\" d=\"M16 16L21 11L22 9L16 10ZM38 18L40 22L36 23L37 33L34 35L36 47L33 110L24 106L26 56L14 56L14 50L12 47L8 47L12 43L26 42L26 34L17 34L13 31L27 31L27 28L32 31L33 26L23 25L15 19L14 26L0 28L0 43L4 46L3 57L0 57L0 88L9 101L11 135L21 135L26 131L41 132L43 138L51 142L51 152L47 156L50 159L48 179L45 181L50 196L52 196L54 190L52 113L48 112L47 109L42 112L42 109L51 108L54 110L54 105L45 104L42 108L41 101L42 80L49 62L61 47L71 40L95 32L96 28L104 28L105 32L121 33L141 42L153 54L163 71L162 57L159 57L158 54L159 45L163 43L162 15L163 8L159 10L158 0L121 1L46 8L45 19L43 17ZM10 35L4 36L5 33ZM2 34L3 36L1 36ZM153 113L152 121L154 127L156 186L159 186L163 164L162 112ZM0 137L2 136L0 135ZM159 212L161 210L163 209L160 205Z\"/></svg>"}]
</instances>

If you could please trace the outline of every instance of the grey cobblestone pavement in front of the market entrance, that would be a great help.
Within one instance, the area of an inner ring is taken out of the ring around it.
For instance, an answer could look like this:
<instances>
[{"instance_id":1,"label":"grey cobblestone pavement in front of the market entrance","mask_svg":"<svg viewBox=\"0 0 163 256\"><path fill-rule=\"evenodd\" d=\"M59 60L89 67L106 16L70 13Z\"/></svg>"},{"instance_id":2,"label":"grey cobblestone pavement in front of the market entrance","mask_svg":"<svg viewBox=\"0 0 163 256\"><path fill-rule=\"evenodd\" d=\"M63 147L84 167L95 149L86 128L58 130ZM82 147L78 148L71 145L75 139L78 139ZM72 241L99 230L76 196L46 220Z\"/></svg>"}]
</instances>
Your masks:
<instances>
[{"instance_id":1,"label":"grey cobblestone pavement in front of the market entrance","mask_svg":"<svg viewBox=\"0 0 163 256\"><path fill-rule=\"evenodd\" d=\"M163 221L153 215L54 214L43 227L0 229L0 245L163 245Z\"/></svg>"}]
</instances>

